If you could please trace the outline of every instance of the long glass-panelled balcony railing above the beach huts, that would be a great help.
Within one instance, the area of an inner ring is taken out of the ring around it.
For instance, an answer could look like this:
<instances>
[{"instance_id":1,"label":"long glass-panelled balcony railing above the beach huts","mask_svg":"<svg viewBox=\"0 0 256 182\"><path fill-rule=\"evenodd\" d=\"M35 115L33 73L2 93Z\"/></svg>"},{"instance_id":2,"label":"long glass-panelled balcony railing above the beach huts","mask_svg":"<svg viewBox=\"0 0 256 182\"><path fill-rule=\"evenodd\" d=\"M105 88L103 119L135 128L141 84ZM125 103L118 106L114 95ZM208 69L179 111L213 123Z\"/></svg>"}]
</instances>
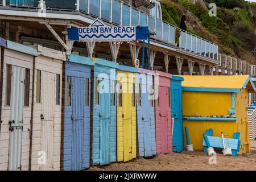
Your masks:
<instances>
[{"instance_id":1,"label":"long glass-panelled balcony railing above the beach huts","mask_svg":"<svg viewBox=\"0 0 256 182\"><path fill-rule=\"evenodd\" d=\"M41 0L42 1L42 0ZM196 55L218 61L218 46L199 36L180 30L158 18L142 13L116 0L44 0L46 9L64 9L80 11L118 26L148 26L155 31L151 36L160 42L179 46L181 49ZM0 0L0 5L15 7L38 7L39 0ZM176 32L179 30L179 42L176 42Z\"/></svg>"}]
</instances>

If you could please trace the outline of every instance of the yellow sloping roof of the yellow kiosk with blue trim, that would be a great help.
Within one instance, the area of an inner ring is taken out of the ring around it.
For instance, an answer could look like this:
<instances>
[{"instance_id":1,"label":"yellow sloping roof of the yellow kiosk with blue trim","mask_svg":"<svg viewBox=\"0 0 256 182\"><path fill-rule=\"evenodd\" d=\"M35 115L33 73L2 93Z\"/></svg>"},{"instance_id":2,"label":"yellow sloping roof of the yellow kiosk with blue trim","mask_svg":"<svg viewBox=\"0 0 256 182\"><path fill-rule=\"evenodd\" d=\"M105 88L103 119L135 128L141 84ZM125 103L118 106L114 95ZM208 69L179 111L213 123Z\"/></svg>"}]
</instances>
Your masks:
<instances>
[{"instance_id":1,"label":"yellow sloping roof of the yellow kiosk with blue trim","mask_svg":"<svg viewBox=\"0 0 256 182\"><path fill-rule=\"evenodd\" d=\"M181 82L182 87L184 88L208 88L209 90L241 90L246 87L249 92L256 92L253 81L251 80L251 77L249 75L181 77L184 78L184 81Z\"/></svg>"}]
</instances>

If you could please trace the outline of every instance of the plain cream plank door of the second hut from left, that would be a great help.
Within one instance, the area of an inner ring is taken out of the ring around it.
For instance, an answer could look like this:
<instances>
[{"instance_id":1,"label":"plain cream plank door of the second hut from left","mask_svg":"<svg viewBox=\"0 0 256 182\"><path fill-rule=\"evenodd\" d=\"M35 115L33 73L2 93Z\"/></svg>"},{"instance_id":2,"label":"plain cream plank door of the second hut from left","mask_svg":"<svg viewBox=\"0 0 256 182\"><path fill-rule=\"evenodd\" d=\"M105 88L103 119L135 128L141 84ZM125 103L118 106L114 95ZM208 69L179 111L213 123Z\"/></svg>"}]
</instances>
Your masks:
<instances>
[{"instance_id":1,"label":"plain cream plank door of the second hut from left","mask_svg":"<svg viewBox=\"0 0 256 182\"><path fill-rule=\"evenodd\" d=\"M54 73L42 71L42 134L41 150L45 152L46 160L40 166L43 171L53 169L53 126L54 126L54 105L55 105L55 80Z\"/></svg>"}]
</instances>

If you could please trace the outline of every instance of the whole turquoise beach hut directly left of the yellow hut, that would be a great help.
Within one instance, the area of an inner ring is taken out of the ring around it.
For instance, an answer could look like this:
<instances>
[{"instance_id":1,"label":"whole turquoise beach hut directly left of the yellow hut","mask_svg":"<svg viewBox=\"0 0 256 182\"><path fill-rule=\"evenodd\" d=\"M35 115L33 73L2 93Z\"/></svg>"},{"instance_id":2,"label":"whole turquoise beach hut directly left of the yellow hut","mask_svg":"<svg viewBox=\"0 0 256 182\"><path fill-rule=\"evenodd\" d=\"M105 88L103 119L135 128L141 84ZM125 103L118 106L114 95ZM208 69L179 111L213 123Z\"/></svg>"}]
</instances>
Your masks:
<instances>
[{"instance_id":1,"label":"whole turquoise beach hut directly left of the yellow hut","mask_svg":"<svg viewBox=\"0 0 256 182\"><path fill-rule=\"evenodd\" d=\"M105 165L116 161L118 64L96 59L93 76L92 162Z\"/></svg>"}]
</instances>

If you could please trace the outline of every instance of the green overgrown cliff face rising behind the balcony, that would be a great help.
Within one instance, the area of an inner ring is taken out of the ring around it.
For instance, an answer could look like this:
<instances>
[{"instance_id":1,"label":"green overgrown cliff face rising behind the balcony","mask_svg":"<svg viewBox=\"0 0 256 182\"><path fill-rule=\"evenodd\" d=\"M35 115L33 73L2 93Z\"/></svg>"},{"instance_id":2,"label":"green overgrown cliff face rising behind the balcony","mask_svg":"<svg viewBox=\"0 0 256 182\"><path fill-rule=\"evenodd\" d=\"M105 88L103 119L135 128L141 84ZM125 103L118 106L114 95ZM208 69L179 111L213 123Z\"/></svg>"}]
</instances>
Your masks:
<instances>
[{"instance_id":1,"label":"green overgrown cliff face rising behind the balcony","mask_svg":"<svg viewBox=\"0 0 256 182\"><path fill-rule=\"evenodd\" d=\"M217 16L210 17L209 3ZM256 64L256 3L244 0L162 0L163 19L179 27L187 15L188 31L219 45L221 53Z\"/></svg>"}]
</instances>

